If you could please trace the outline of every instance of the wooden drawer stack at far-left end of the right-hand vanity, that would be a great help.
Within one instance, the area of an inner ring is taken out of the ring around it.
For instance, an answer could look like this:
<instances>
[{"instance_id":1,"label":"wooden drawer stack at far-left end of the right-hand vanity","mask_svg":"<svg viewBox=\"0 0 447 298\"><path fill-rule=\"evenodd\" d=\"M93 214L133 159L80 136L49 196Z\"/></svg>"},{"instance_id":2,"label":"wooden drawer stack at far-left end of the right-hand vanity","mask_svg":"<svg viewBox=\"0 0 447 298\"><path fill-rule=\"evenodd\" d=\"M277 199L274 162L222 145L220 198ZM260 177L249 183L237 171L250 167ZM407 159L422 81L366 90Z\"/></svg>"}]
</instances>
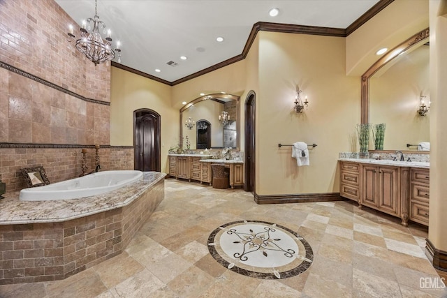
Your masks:
<instances>
[{"instance_id":1,"label":"wooden drawer stack at far-left end of the right-hand vanity","mask_svg":"<svg viewBox=\"0 0 447 298\"><path fill-rule=\"evenodd\" d=\"M359 202L360 164L340 163L340 195Z\"/></svg>"}]
</instances>

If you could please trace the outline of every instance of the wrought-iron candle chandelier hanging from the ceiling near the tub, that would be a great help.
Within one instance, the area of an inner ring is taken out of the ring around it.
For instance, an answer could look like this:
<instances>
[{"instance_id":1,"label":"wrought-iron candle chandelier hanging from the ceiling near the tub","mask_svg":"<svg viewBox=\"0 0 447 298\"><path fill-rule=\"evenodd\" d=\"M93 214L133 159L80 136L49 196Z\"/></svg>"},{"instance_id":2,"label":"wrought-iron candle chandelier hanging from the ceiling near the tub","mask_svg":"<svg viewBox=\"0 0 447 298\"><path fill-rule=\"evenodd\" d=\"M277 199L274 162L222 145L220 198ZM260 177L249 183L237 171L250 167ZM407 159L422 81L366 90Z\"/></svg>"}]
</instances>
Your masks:
<instances>
[{"instance_id":1,"label":"wrought-iron candle chandelier hanging from the ceiling near the tub","mask_svg":"<svg viewBox=\"0 0 447 298\"><path fill-rule=\"evenodd\" d=\"M91 29L90 24L93 24L93 29L89 33L87 29ZM105 34L105 24L99 20L98 3L97 0L95 0L95 16L93 17L93 19L89 17L87 21L82 21L80 38L75 41L76 48L79 50L79 52L85 54L85 57L93 62L95 66L105 61L115 59L115 52L118 53L118 62L121 63L121 50L119 49L119 41L117 41L117 47L115 51L112 50L112 38L110 38L110 29L107 31L107 37L103 39L101 33L99 32L100 27L103 29L103 33ZM76 36L73 33L73 26L70 25L68 28L70 31L67 33L67 40L71 43L75 40Z\"/></svg>"}]
</instances>

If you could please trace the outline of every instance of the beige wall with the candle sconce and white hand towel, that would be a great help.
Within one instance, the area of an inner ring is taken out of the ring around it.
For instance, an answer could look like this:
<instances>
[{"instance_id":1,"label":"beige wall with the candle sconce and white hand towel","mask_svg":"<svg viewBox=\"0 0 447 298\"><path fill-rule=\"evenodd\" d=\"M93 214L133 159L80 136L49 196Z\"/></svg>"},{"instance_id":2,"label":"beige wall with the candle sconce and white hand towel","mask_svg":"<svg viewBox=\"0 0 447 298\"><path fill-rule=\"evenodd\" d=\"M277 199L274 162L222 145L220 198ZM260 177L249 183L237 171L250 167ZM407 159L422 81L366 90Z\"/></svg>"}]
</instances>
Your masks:
<instances>
[{"instance_id":1,"label":"beige wall with the candle sconce and white hand towel","mask_svg":"<svg viewBox=\"0 0 447 298\"><path fill-rule=\"evenodd\" d=\"M256 193L338 192L338 154L349 151L349 135L360 121L360 80L346 77L344 38L258 35ZM302 114L293 111L296 84L309 100ZM318 144L309 167L297 167L291 147L278 147L297 141Z\"/></svg>"}]
</instances>

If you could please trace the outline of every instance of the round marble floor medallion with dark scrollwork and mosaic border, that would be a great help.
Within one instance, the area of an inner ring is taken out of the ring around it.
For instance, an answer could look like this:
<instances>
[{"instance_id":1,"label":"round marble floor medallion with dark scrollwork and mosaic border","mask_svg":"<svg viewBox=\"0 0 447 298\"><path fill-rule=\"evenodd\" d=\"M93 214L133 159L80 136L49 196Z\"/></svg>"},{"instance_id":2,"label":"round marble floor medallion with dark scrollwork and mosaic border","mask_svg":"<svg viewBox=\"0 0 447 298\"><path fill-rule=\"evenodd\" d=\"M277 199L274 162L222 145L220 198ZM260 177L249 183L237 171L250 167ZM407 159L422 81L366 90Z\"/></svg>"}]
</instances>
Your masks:
<instances>
[{"instance_id":1,"label":"round marble floor medallion with dark scrollwork and mosaic border","mask_svg":"<svg viewBox=\"0 0 447 298\"><path fill-rule=\"evenodd\" d=\"M312 265L314 253L298 233L276 223L233 221L214 230L208 250L219 264L245 276L296 276Z\"/></svg>"}]
</instances>

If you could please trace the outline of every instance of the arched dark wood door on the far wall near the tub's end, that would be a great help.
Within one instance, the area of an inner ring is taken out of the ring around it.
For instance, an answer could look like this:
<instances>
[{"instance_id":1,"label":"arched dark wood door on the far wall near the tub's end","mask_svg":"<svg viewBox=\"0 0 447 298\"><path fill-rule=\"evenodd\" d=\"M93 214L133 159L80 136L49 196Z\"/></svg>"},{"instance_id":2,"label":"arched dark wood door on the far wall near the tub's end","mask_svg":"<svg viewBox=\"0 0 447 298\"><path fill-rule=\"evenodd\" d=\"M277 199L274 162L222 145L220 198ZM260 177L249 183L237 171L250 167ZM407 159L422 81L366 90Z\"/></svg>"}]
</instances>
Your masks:
<instances>
[{"instance_id":1,"label":"arched dark wood door on the far wall near the tub's end","mask_svg":"<svg viewBox=\"0 0 447 298\"><path fill-rule=\"evenodd\" d=\"M161 170L160 115L152 110L134 112L135 170Z\"/></svg>"}]
</instances>

